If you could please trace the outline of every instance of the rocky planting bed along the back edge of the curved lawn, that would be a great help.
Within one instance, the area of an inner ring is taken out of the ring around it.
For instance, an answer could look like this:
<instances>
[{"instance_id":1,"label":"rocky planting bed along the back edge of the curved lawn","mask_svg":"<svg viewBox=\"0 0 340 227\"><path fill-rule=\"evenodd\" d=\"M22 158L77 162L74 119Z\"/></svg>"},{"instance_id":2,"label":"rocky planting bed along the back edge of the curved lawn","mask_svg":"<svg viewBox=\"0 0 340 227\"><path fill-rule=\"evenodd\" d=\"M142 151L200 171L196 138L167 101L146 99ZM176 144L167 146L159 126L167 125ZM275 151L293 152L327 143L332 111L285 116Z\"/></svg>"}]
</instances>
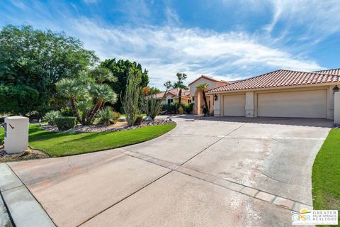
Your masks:
<instances>
[{"instance_id":1,"label":"rocky planting bed along the back edge of the curved lawn","mask_svg":"<svg viewBox=\"0 0 340 227\"><path fill-rule=\"evenodd\" d=\"M159 126L159 125L169 125L169 124L176 124L171 119L155 119L154 121L143 121L140 126L131 126L129 127L125 121L121 122L118 121L117 123L111 126L103 126L103 125L93 125L93 126L76 126L68 130L68 132L79 132L79 133L90 133L90 132L115 132L115 131L127 131L130 129L135 128L142 128L147 126ZM49 125L42 125L40 126L41 129L51 132L60 132L57 126L49 126Z\"/></svg>"}]
</instances>

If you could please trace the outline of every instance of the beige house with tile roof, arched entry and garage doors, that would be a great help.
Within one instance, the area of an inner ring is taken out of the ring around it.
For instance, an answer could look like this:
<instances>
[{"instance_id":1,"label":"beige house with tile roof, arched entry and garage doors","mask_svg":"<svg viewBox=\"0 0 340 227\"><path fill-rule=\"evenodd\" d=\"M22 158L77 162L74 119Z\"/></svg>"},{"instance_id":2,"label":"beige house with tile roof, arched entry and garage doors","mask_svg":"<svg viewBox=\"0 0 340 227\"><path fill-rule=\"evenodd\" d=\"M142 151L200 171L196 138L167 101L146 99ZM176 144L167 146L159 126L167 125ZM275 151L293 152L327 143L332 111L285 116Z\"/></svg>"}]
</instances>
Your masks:
<instances>
[{"instance_id":1,"label":"beige house with tile roof, arched entry and garage doors","mask_svg":"<svg viewBox=\"0 0 340 227\"><path fill-rule=\"evenodd\" d=\"M202 92L196 86L203 83L208 84L208 105L214 116L333 119L334 92L340 87L340 69L276 70L237 82L202 76L189 84L195 114L201 113L203 104Z\"/></svg>"}]
</instances>

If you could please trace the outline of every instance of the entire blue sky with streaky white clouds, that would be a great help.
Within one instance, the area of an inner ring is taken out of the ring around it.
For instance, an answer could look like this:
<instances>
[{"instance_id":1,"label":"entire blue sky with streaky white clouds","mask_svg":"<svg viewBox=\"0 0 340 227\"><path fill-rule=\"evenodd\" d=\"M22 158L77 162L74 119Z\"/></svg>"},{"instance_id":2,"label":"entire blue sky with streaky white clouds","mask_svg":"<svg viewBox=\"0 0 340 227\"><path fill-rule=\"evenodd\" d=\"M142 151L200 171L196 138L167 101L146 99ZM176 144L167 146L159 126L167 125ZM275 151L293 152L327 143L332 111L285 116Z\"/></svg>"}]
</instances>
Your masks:
<instances>
[{"instance_id":1,"label":"entire blue sky with streaky white clouds","mask_svg":"<svg viewBox=\"0 0 340 227\"><path fill-rule=\"evenodd\" d=\"M162 87L176 72L241 79L340 67L339 1L0 1L0 26L64 31L106 58L135 60Z\"/></svg>"}]
</instances>

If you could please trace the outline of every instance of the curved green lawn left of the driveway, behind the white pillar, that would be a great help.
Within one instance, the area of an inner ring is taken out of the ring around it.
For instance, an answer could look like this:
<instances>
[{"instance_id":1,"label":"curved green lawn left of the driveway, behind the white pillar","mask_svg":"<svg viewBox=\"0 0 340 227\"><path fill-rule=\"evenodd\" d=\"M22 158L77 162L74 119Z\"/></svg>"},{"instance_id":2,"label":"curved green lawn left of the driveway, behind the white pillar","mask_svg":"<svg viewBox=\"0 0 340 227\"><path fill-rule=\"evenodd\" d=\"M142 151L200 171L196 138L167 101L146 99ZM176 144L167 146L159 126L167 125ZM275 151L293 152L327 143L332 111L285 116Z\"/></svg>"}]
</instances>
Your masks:
<instances>
[{"instance_id":1,"label":"curved green lawn left of the driveway, behind the white pillar","mask_svg":"<svg viewBox=\"0 0 340 227\"><path fill-rule=\"evenodd\" d=\"M38 125L30 125L29 145L45 151L52 157L75 155L141 143L174 127L175 125L147 126L108 133L52 133L40 129ZM0 140L3 140L4 130L0 130L0 133Z\"/></svg>"}]
</instances>

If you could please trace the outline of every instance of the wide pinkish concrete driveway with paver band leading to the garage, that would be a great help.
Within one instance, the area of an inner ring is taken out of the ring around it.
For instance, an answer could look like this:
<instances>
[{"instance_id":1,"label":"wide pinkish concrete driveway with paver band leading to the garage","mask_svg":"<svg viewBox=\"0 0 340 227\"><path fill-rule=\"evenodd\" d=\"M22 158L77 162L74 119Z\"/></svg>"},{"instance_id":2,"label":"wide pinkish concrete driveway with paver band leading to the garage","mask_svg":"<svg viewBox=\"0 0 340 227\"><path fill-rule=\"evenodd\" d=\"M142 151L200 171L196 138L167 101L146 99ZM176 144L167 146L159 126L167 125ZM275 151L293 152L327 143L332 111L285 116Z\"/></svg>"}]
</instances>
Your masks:
<instances>
[{"instance_id":1,"label":"wide pinkish concrete driveway with paver band leading to the garage","mask_svg":"<svg viewBox=\"0 0 340 227\"><path fill-rule=\"evenodd\" d=\"M145 143L8 163L57 226L290 226L331 121L174 117Z\"/></svg>"}]
</instances>

